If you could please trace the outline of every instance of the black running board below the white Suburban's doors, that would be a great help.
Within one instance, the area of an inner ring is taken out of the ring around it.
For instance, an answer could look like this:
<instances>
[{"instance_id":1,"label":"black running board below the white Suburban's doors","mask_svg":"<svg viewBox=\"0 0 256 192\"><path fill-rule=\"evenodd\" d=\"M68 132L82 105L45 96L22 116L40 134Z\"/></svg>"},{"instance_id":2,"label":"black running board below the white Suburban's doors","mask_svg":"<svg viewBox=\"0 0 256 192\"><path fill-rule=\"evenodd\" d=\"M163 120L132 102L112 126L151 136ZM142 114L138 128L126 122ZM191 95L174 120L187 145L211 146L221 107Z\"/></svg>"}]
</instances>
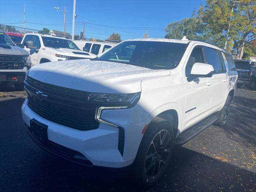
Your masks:
<instances>
[{"instance_id":1,"label":"black running board below the white Suburban's doors","mask_svg":"<svg viewBox=\"0 0 256 192\"><path fill-rule=\"evenodd\" d=\"M216 120L218 120L218 118L219 118L219 112L215 112L214 114L208 116L204 120L194 124L190 128L187 128L176 137L174 144L176 145L185 144L194 136L198 135L200 132L202 132L211 124L213 124Z\"/></svg>"}]
</instances>

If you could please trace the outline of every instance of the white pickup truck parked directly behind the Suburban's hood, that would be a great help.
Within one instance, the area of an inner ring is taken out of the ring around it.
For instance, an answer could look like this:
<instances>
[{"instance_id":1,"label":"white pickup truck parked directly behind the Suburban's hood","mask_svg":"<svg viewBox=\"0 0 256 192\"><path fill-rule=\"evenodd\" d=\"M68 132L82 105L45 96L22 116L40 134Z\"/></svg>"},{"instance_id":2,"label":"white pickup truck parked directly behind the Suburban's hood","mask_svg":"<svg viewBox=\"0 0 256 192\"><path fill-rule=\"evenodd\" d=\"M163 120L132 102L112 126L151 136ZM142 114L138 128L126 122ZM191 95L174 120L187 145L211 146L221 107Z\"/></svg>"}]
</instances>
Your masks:
<instances>
[{"instance_id":1,"label":"white pickup truck parked directly behind the Suburban's hood","mask_svg":"<svg viewBox=\"0 0 256 192\"><path fill-rule=\"evenodd\" d=\"M95 58L95 54L81 51L72 41L62 37L27 33L21 44L29 52L32 67L46 62Z\"/></svg>"}]
</instances>

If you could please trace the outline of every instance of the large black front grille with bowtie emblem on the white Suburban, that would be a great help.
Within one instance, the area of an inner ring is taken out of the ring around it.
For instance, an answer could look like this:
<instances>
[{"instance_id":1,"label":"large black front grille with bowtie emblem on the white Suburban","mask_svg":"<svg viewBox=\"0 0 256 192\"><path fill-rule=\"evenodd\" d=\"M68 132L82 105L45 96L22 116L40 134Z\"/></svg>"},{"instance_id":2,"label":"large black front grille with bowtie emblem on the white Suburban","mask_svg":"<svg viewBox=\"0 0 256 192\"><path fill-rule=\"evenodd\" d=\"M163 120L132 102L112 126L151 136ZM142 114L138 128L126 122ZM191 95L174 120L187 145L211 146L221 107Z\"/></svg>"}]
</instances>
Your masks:
<instances>
[{"instance_id":1,"label":"large black front grille with bowtie emblem on the white Suburban","mask_svg":"<svg viewBox=\"0 0 256 192\"><path fill-rule=\"evenodd\" d=\"M25 89L28 106L41 117L78 130L98 128L97 106L87 102L89 92L47 84L29 76Z\"/></svg>"}]
</instances>

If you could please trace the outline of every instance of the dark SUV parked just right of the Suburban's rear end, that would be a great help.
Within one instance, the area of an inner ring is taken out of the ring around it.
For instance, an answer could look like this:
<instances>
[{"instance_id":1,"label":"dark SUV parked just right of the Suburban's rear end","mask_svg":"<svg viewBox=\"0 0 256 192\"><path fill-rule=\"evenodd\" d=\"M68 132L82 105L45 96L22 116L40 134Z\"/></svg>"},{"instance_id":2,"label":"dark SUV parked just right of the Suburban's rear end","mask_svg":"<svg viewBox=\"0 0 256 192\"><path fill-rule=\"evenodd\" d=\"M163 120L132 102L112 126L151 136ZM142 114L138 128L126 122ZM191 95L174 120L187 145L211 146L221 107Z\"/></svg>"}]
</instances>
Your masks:
<instances>
[{"instance_id":1,"label":"dark SUV parked just right of the Suburban's rear end","mask_svg":"<svg viewBox=\"0 0 256 192\"><path fill-rule=\"evenodd\" d=\"M250 84L251 66L248 60L234 60L236 70L238 72L237 86L244 88L245 85Z\"/></svg>"}]
</instances>

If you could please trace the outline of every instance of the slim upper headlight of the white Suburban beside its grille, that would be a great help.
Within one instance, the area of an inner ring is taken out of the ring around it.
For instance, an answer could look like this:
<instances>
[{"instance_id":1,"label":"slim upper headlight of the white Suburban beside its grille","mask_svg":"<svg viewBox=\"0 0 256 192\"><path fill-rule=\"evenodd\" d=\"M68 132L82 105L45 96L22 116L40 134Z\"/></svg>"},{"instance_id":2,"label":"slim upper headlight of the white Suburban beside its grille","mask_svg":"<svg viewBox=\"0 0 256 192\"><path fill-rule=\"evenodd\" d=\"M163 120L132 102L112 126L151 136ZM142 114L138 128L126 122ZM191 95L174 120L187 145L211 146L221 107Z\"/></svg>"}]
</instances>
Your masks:
<instances>
[{"instance_id":1,"label":"slim upper headlight of the white Suburban beside its grille","mask_svg":"<svg viewBox=\"0 0 256 192\"><path fill-rule=\"evenodd\" d=\"M140 92L128 94L91 93L87 101L103 104L103 106L134 106L140 100Z\"/></svg>"}]
</instances>

